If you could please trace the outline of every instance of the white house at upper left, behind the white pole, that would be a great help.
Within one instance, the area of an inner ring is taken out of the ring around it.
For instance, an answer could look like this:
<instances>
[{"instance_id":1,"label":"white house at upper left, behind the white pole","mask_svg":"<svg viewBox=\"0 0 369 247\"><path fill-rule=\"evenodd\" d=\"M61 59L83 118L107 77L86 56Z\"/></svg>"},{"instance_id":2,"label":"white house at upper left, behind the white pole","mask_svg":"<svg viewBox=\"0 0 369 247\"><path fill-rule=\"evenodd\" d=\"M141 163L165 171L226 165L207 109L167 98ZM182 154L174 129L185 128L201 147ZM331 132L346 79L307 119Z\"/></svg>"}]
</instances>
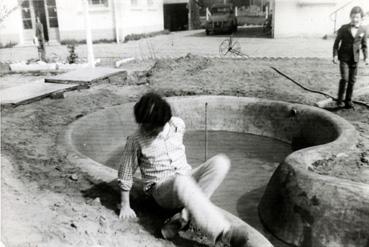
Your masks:
<instances>
[{"instance_id":1,"label":"white house at upper left, behind the white pole","mask_svg":"<svg viewBox=\"0 0 369 247\"><path fill-rule=\"evenodd\" d=\"M0 23L0 43L32 42L40 16L50 42L84 40L83 0L1 0L13 11ZM88 0L93 40L122 40L128 34L164 29L163 0Z\"/></svg>"}]
</instances>

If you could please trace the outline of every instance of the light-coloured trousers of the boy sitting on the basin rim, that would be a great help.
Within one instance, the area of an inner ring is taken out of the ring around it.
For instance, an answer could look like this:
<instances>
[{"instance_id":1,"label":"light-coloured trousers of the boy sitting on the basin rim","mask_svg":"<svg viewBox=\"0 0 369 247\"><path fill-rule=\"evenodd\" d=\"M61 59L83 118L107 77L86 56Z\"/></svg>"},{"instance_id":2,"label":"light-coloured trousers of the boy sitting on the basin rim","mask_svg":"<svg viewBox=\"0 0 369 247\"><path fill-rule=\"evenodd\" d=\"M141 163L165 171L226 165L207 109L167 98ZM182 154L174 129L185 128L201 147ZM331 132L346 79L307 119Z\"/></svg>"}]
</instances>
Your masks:
<instances>
[{"instance_id":1,"label":"light-coloured trousers of the boy sitting on the basin rim","mask_svg":"<svg viewBox=\"0 0 369 247\"><path fill-rule=\"evenodd\" d=\"M220 233L229 230L230 223L209 198L229 168L227 156L216 155L193 169L190 175L176 175L159 182L152 195L163 208L186 208L195 225L215 240Z\"/></svg>"}]
</instances>

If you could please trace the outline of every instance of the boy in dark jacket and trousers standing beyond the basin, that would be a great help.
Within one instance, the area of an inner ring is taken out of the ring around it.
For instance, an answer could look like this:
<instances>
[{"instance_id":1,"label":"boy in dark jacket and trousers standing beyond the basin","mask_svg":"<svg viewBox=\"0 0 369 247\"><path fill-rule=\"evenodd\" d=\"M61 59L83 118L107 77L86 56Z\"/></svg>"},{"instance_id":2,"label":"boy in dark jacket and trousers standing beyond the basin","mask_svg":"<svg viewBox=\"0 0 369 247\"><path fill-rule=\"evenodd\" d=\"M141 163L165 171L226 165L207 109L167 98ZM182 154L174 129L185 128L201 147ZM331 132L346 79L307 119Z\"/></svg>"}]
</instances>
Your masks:
<instances>
[{"instance_id":1,"label":"boy in dark jacket and trousers standing beyond the basin","mask_svg":"<svg viewBox=\"0 0 369 247\"><path fill-rule=\"evenodd\" d=\"M338 88L337 105L343 106L345 97L345 107L352 108L352 93L356 82L357 66L360 57L360 46L364 55L364 63L368 65L366 31L360 26L364 12L360 7L352 8L350 12L351 22L343 25L337 32L333 45L333 62L340 61L341 80ZM347 89L346 89L347 85Z\"/></svg>"}]
</instances>

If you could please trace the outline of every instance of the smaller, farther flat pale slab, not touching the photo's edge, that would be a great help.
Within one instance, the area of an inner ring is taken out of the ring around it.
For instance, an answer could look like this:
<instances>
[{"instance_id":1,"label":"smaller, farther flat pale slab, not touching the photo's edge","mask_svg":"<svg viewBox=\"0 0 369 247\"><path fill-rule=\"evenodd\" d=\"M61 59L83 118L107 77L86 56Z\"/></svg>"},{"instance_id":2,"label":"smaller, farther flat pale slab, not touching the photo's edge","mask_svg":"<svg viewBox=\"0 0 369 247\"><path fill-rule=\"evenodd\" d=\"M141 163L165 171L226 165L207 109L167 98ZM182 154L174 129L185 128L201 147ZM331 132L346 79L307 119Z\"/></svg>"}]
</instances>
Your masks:
<instances>
[{"instance_id":1,"label":"smaller, farther flat pale slab, not touching the photo's edge","mask_svg":"<svg viewBox=\"0 0 369 247\"><path fill-rule=\"evenodd\" d=\"M125 72L125 70L106 67L82 68L45 78L45 82L87 84Z\"/></svg>"}]
</instances>

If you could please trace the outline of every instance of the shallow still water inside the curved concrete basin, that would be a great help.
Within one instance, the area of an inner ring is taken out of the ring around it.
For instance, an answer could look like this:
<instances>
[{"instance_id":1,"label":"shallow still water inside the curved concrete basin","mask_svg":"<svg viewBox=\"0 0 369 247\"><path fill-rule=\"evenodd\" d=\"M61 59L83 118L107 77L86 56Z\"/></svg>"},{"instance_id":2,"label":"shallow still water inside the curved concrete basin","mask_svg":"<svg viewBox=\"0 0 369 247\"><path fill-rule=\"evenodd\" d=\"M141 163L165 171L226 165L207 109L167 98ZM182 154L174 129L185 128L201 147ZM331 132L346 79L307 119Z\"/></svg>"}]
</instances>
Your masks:
<instances>
[{"instance_id":1,"label":"shallow still water inside the curved concrete basin","mask_svg":"<svg viewBox=\"0 0 369 247\"><path fill-rule=\"evenodd\" d=\"M184 138L188 162L194 167L205 159L204 131L187 132ZM287 246L263 229L257 205L274 170L291 153L284 142L227 131L208 132L208 157L225 153L232 162L224 182L211 200L264 234L276 247Z\"/></svg>"}]
</instances>

